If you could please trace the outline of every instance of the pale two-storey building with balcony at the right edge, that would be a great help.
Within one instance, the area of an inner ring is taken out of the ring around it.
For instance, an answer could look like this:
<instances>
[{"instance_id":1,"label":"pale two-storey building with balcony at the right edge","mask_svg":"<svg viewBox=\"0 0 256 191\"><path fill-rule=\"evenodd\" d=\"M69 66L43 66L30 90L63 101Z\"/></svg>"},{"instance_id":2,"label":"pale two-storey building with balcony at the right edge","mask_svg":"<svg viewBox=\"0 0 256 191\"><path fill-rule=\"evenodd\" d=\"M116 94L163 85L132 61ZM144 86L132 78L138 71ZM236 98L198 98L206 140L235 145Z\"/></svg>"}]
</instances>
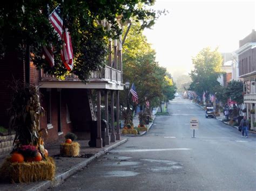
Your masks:
<instances>
[{"instance_id":1,"label":"pale two-storey building with balcony at the right edge","mask_svg":"<svg viewBox=\"0 0 256 191\"><path fill-rule=\"evenodd\" d=\"M256 103L256 32L252 30L251 34L239 41L239 49L235 51L238 54L239 77L244 81L244 103L246 103L247 118L251 118L251 129L255 122L255 114L252 114ZM252 111L252 112L250 112Z\"/></svg>"}]
</instances>

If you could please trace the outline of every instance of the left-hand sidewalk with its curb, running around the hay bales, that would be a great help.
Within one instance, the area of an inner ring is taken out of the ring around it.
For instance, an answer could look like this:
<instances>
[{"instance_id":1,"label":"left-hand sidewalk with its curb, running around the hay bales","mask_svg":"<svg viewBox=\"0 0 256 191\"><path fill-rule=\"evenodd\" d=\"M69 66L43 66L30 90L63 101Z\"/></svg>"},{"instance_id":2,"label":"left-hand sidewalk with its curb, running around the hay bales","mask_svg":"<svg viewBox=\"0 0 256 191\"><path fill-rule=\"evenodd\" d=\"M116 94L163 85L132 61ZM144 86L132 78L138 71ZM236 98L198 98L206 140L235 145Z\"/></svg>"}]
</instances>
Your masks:
<instances>
[{"instance_id":1,"label":"left-hand sidewalk with its curb, running around the hay bales","mask_svg":"<svg viewBox=\"0 0 256 191\"><path fill-rule=\"evenodd\" d=\"M153 116L153 121L156 116ZM152 124L148 125L148 131L150 130ZM133 119L134 126L138 126L139 120L138 115ZM142 132L138 136L145 135L147 131ZM64 140L63 140L64 141ZM56 163L56 175L55 180L53 181L39 181L32 183L0 183L0 190L46 190L53 185L57 185L63 182L72 174L75 174L78 171L81 171L84 168L87 168L87 165L90 164L93 160L96 160L100 156L104 155L106 152L110 151L114 147L117 147L121 144L124 144L127 141L127 138L122 135L121 140L117 140L115 143L110 143L103 148L89 147L89 140L77 140L80 144L80 157L60 157L59 156L59 145L61 142L56 142L51 145L45 145L45 148L48 150L50 157L55 160ZM0 165L4 161L7 155L0 155Z\"/></svg>"}]
</instances>

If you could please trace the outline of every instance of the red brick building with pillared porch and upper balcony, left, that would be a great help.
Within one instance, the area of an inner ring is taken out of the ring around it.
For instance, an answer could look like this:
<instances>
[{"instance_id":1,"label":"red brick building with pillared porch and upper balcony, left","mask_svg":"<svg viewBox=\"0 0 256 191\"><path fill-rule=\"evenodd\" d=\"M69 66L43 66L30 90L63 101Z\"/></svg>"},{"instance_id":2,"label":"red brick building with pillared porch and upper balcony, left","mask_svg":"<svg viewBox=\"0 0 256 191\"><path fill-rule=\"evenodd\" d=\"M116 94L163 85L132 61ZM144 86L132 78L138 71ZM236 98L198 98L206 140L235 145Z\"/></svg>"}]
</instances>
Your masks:
<instances>
[{"instance_id":1,"label":"red brick building with pillared porch and upper balcony, left","mask_svg":"<svg viewBox=\"0 0 256 191\"><path fill-rule=\"evenodd\" d=\"M112 46L113 43L113 46ZM84 84L75 75L65 76L65 80L45 74L43 70L36 69L30 63L30 82L39 87L40 100L45 110L45 116L40 118L40 128L48 130L48 136L44 136L45 143L63 139L67 132L78 132L83 138L89 138L91 133L91 121L97 121L96 146L115 142L120 139L119 126L114 129L114 121L119 124L119 115L114 119L114 106L119 114L119 91L124 89L122 83L122 44L117 40L109 40L109 61L102 71L91 73L87 84ZM113 53L112 53L113 52ZM11 90L8 84L14 77L16 80L25 81L24 61L18 59L16 52L9 52L3 60L0 60L0 125L8 127L9 118L6 110L10 107ZM96 104L93 103L91 94L97 95ZM104 100L104 103L101 103ZM104 115L101 116L101 108L104 105ZM109 117L110 116L110 117ZM109 122L109 118L111 121ZM107 130L105 137L101 134L101 119L105 119ZM109 135L109 129L111 135Z\"/></svg>"}]
</instances>

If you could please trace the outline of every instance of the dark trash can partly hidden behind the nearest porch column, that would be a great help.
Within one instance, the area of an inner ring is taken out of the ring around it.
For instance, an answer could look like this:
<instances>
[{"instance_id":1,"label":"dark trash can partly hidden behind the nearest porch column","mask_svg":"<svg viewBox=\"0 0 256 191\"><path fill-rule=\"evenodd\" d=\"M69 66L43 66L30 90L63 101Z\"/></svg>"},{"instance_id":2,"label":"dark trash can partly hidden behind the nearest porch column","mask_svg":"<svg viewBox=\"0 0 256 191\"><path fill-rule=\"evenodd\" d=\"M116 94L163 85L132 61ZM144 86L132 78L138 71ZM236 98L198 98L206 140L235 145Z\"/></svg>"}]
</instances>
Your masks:
<instances>
[{"instance_id":1,"label":"dark trash can partly hidden behind the nearest porch column","mask_svg":"<svg viewBox=\"0 0 256 191\"><path fill-rule=\"evenodd\" d=\"M106 121L102 119L101 121L101 129L102 129L102 146L106 146L105 142L105 132L106 132ZM97 139L97 121L90 122L90 130L91 130L91 140L89 141L90 147L96 147L96 139Z\"/></svg>"}]
</instances>

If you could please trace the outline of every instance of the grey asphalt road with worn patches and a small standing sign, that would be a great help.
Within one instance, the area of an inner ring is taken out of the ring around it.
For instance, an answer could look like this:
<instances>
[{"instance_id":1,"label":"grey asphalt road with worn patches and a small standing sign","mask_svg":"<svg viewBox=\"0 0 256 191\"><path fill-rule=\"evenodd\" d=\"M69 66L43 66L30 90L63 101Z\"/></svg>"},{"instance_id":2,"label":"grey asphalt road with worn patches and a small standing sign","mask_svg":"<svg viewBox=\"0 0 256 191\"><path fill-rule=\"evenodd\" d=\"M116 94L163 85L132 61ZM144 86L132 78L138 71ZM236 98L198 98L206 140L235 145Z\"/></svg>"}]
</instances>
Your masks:
<instances>
[{"instance_id":1,"label":"grey asphalt road with worn patches and a small standing sign","mask_svg":"<svg viewBox=\"0 0 256 191\"><path fill-rule=\"evenodd\" d=\"M205 118L188 100L169 104L143 137L111 150L53 190L256 190L256 135ZM195 138L190 118L197 117Z\"/></svg>"}]
</instances>

